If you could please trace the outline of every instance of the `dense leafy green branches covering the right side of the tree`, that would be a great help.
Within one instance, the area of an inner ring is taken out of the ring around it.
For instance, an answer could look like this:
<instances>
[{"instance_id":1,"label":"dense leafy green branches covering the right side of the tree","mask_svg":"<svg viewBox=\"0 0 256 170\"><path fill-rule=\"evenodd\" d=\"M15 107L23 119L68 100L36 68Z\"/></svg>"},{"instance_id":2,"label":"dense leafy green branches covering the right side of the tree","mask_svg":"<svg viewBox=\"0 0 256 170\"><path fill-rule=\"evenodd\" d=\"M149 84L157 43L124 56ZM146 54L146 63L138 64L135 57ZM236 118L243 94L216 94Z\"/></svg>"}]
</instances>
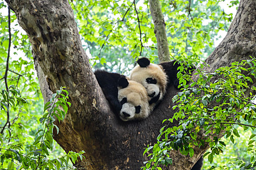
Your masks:
<instances>
[{"instance_id":1,"label":"dense leafy green branches covering the right side of the tree","mask_svg":"<svg viewBox=\"0 0 256 170\"><path fill-rule=\"evenodd\" d=\"M158 142L146 148L144 153L150 151L148 156L151 158L146 162L145 170L152 163L152 170L161 164L172 164L169 157L171 150L192 157L192 146L201 147L205 143L209 144L210 151L203 157L212 163L214 156L223 153L226 147L222 136L234 143L235 136L240 137L237 126L244 130L256 128L256 104L253 102L256 87L252 86L252 78L256 78L256 59L234 62L231 67L218 68L214 73L202 71L202 67L203 64L195 73L199 76L198 80L189 79L189 85L185 84L188 76L181 76L184 68L180 68L180 83L184 88L173 98L173 102L178 103L173 109L178 110L172 118L163 121L172 123L174 119L179 119L179 126L163 127L157 137ZM212 106L215 102L219 106ZM198 138L202 134L205 135L204 140ZM255 136L250 136L247 146L247 151L251 153L250 162L235 159L241 170L256 166Z\"/></svg>"}]
</instances>

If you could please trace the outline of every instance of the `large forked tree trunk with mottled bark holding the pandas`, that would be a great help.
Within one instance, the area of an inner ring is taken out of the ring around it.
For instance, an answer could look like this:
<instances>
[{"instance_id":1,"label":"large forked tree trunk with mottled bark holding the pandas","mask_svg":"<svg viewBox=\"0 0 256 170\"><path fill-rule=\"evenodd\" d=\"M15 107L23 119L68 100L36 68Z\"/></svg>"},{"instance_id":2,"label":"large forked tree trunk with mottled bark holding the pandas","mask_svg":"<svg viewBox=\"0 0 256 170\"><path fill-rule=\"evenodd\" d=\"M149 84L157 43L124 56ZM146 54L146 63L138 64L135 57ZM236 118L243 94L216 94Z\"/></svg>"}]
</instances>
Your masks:
<instances>
[{"instance_id":1,"label":"large forked tree trunk with mottled bark holding the pandas","mask_svg":"<svg viewBox=\"0 0 256 170\"><path fill-rule=\"evenodd\" d=\"M55 140L66 151L84 150L81 167L131 169L143 166L144 148L156 142L163 119L173 116L174 87L160 106L142 121L123 122L110 110L82 49L73 10L67 0L6 0L32 44L32 52L45 101L66 86L71 108L57 124ZM241 0L227 36L208 57L208 71L256 56L256 1ZM256 80L254 80L256 82ZM48 86L49 85L49 86ZM50 89L50 91L49 91ZM174 122L176 126L178 122ZM192 158L172 153L169 170L189 170L208 148L196 148ZM81 168L80 167L80 168Z\"/></svg>"}]
</instances>

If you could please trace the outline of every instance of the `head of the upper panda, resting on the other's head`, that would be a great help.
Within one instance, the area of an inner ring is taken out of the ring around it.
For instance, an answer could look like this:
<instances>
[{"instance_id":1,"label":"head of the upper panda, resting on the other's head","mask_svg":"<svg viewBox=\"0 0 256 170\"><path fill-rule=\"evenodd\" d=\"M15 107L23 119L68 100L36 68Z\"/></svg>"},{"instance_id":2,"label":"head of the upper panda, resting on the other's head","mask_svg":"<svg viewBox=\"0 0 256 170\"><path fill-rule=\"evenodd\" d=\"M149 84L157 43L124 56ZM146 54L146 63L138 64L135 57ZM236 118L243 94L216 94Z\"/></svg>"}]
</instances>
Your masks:
<instances>
[{"instance_id":1,"label":"head of the upper panda, resting on the other's head","mask_svg":"<svg viewBox=\"0 0 256 170\"><path fill-rule=\"evenodd\" d=\"M163 99L166 92L167 75L161 65L150 63L147 58L140 58L138 66L132 69L130 80L142 84L150 97L149 104Z\"/></svg>"}]
</instances>

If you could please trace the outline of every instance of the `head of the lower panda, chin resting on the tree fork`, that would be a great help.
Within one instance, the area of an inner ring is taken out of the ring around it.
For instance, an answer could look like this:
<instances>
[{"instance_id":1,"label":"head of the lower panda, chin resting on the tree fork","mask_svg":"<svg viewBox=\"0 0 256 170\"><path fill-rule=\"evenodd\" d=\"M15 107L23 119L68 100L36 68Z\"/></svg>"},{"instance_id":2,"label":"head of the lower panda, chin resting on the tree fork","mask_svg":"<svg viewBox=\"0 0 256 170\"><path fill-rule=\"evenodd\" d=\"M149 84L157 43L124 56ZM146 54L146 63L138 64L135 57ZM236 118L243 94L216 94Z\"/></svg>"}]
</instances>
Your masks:
<instances>
[{"instance_id":1,"label":"head of the lower panda, chin resting on the tree fork","mask_svg":"<svg viewBox=\"0 0 256 170\"><path fill-rule=\"evenodd\" d=\"M144 119L150 113L145 87L124 77L118 81L118 101L122 105L119 116L123 121Z\"/></svg>"}]
</instances>

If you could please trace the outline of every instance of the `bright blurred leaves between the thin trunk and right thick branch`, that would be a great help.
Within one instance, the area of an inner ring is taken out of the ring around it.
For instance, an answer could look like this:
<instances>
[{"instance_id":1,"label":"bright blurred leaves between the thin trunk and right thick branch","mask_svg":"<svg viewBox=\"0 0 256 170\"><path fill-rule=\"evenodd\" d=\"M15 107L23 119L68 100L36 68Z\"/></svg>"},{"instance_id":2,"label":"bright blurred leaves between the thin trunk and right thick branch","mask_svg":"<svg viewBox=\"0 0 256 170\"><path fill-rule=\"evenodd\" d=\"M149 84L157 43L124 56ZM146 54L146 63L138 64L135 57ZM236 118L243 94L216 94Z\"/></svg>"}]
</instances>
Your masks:
<instances>
[{"instance_id":1,"label":"bright blurred leaves between the thin trunk and right thick branch","mask_svg":"<svg viewBox=\"0 0 256 170\"><path fill-rule=\"evenodd\" d=\"M208 56L214 49L213 37L227 31L233 14L226 14L219 0L164 0L166 34L172 55Z\"/></svg>"}]
</instances>

